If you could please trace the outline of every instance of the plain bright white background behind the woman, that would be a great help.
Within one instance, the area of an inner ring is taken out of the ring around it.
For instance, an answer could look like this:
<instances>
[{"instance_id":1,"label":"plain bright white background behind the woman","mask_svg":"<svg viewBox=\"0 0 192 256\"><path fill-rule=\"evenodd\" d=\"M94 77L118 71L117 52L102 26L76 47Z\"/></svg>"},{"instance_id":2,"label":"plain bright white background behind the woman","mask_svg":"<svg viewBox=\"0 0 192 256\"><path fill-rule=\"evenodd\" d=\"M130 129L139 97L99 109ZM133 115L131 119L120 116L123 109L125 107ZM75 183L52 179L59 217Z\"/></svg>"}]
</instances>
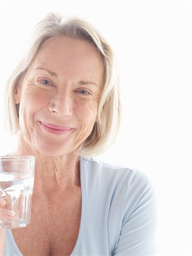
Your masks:
<instances>
[{"instance_id":1,"label":"plain bright white background behind the woman","mask_svg":"<svg viewBox=\"0 0 192 256\"><path fill-rule=\"evenodd\" d=\"M32 28L49 11L90 20L114 48L123 125L100 158L139 168L152 180L157 255L191 255L191 2L1 1L0 155L15 147L3 128L3 86Z\"/></svg>"}]
</instances>

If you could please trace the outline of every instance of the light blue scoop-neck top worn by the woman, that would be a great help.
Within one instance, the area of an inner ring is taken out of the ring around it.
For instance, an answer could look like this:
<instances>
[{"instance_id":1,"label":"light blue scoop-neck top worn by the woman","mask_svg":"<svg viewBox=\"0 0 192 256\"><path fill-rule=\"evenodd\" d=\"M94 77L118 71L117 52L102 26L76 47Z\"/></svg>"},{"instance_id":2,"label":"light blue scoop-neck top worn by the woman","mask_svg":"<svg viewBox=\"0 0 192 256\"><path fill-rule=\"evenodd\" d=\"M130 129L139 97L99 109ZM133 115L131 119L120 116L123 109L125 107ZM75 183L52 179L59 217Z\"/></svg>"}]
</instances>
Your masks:
<instances>
[{"instance_id":1,"label":"light blue scoop-neck top worn by the woman","mask_svg":"<svg viewBox=\"0 0 192 256\"><path fill-rule=\"evenodd\" d=\"M84 157L80 175L81 223L71 255L154 255L156 197L148 177ZM6 232L5 255L22 256L11 229Z\"/></svg>"}]
</instances>

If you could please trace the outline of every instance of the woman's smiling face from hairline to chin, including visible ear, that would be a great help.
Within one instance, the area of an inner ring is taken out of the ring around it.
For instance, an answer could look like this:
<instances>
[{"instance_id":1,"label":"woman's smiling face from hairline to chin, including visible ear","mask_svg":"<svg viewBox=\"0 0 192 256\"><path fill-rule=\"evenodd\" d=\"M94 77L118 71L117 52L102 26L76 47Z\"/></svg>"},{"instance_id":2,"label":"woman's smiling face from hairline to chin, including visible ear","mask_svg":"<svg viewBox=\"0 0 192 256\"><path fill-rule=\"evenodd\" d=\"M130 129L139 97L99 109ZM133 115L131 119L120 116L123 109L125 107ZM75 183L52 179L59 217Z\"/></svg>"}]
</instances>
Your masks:
<instances>
[{"instance_id":1,"label":"woman's smiling face from hairline to chin, including visible ear","mask_svg":"<svg viewBox=\"0 0 192 256\"><path fill-rule=\"evenodd\" d=\"M28 146L55 156L75 151L97 121L103 77L89 42L57 37L45 44L15 92Z\"/></svg>"}]
</instances>

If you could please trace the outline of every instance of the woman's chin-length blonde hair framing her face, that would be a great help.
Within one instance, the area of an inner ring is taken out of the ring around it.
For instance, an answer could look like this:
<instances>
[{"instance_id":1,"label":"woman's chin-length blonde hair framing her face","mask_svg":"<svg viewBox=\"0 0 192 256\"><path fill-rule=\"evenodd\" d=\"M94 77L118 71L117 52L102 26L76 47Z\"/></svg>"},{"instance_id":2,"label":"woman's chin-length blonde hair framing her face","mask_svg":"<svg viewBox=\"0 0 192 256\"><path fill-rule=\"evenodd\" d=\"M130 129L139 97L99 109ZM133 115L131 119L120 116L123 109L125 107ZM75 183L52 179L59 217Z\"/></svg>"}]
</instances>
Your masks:
<instances>
[{"instance_id":1,"label":"woman's chin-length blonde hair framing her face","mask_svg":"<svg viewBox=\"0 0 192 256\"><path fill-rule=\"evenodd\" d=\"M82 18L65 18L49 13L35 27L26 54L16 65L7 82L6 100L8 127L12 134L19 134L18 104L14 101L15 89L20 85L24 74L41 47L56 36L89 41L100 54L105 71L105 79L98 105L98 117L89 137L81 144L79 154L93 156L104 152L114 142L122 117L120 104L119 76L112 48L89 22Z\"/></svg>"}]
</instances>

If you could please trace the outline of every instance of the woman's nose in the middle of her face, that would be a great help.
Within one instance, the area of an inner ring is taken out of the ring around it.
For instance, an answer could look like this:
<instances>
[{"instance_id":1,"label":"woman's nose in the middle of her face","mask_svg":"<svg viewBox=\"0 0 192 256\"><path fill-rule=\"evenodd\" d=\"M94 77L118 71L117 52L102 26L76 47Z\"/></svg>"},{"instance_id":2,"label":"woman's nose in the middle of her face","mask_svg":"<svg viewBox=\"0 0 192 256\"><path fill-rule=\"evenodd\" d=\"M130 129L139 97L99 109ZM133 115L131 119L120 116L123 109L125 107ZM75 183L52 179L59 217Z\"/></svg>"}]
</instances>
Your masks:
<instances>
[{"instance_id":1,"label":"woman's nose in the middle of her face","mask_svg":"<svg viewBox=\"0 0 192 256\"><path fill-rule=\"evenodd\" d=\"M70 117L73 113L72 97L68 92L57 90L49 102L48 110L60 117Z\"/></svg>"}]
</instances>

